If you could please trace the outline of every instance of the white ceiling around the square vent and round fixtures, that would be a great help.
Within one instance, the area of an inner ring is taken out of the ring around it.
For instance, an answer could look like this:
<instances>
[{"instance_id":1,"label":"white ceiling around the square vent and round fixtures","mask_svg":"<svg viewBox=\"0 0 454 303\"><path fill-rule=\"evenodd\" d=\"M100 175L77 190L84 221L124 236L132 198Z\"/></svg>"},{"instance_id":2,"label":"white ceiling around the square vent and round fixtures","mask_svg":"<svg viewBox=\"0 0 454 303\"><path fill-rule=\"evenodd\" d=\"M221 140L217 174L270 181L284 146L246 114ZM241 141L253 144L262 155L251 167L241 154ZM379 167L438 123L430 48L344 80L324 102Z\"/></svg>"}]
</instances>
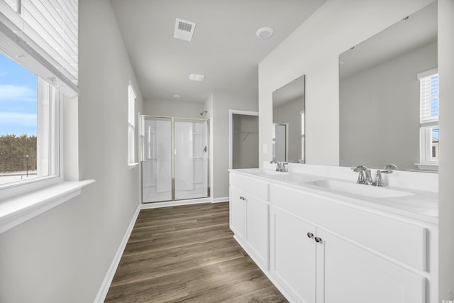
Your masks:
<instances>
[{"instance_id":1,"label":"white ceiling around the square vent and round fixtures","mask_svg":"<svg viewBox=\"0 0 454 303\"><path fill-rule=\"evenodd\" d=\"M210 94L258 96L258 63L326 0L111 0L145 100L204 102ZM192 42L175 19L196 23ZM258 28L274 29L270 39ZM204 82L189 74L205 75Z\"/></svg>"}]
</instances>

